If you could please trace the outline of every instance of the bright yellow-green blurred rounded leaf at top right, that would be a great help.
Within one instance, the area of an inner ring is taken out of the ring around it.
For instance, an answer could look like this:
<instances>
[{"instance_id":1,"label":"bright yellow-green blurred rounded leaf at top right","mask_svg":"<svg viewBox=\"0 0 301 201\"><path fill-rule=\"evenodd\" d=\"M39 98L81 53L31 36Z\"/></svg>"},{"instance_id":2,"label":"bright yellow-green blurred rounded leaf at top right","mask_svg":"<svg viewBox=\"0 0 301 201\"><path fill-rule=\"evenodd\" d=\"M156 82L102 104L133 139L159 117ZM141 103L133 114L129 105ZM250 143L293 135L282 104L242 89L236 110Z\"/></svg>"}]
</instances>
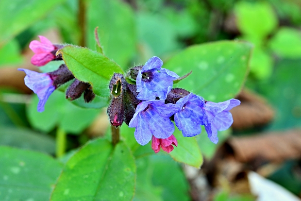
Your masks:
<instances>
[{"instance_id":1,"label":"bright yellow-green blurred rounded leaf at top right","mask_svg":"<svg viewBox=\"0 0 301 201\"><path fill-rule=\"evenodd\" d=\"M235 14L238 29L254 37L266 37L278 24L272 6L264 1L239 1L235 5Z\"/></svg>"}]
</instances>

